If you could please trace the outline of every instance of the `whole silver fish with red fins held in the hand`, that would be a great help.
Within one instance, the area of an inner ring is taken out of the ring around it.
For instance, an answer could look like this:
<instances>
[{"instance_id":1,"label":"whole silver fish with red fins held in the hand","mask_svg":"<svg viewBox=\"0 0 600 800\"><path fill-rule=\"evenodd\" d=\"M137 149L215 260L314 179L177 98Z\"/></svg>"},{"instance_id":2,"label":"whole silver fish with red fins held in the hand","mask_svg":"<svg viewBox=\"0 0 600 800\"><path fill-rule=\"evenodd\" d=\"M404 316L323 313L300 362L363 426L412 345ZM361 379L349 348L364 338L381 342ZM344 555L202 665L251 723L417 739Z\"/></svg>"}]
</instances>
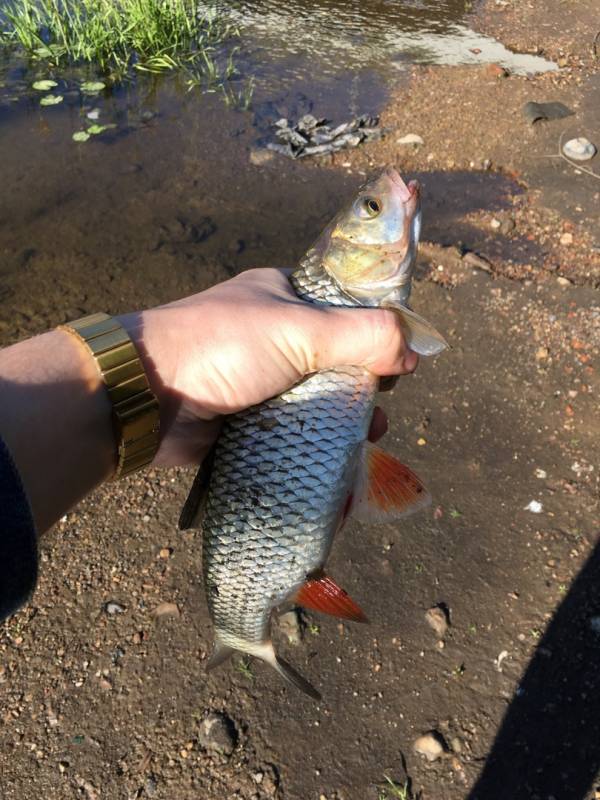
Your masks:
<instances>
[{"instance_id":1,"label":"whole silver fish with red fins held in the hand","mask_svg":"<svg viewBox=\"0 0 600 800\"><path fill-rule=\"evenodd\" d=\"M421 230L420 187L393 167L367 182L291 273L309 303L384 307L422 355L447 347L408 306ZM379 379L347 365L308 375L225 419L200 466L179 526L202 528L203 576L215 644L207 668L241 652L320 693L276 654L271 623L290 604L356 622L360 606L325 572L349 517L389 522L425 508L421 480L368 441Z\"/></svg>"}]
</instances>

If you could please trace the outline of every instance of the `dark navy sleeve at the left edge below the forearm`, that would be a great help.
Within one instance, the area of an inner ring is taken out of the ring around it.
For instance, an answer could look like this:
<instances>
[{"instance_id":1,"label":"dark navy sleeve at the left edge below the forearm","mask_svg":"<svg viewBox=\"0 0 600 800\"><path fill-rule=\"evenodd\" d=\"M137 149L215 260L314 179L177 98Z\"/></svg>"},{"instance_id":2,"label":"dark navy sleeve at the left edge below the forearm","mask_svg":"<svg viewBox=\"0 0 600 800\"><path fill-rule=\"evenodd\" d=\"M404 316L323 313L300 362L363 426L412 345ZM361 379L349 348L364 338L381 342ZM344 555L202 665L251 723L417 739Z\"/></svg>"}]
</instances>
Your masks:
<instances>
[{"instance_id":1,"label":"dark navy sleeve at the left edge below the forearm","mask_svg":"<svg viewBox=\"0 0 600 800\"><path fill-rule=\"evenodd\" d=\"M23 605L37 579L37 536L29 500L0 438L0 620Z\"/></svg>"}]
</instances>

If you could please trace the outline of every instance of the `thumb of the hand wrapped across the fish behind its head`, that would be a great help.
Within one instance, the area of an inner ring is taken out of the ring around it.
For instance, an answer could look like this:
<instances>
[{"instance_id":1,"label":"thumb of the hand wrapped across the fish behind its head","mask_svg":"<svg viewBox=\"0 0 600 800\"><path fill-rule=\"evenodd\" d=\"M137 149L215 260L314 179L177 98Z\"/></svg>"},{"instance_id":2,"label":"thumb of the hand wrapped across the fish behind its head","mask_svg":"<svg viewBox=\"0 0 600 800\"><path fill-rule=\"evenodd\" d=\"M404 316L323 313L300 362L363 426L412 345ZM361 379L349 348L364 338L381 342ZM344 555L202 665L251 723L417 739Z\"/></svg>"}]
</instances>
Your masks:
<instances>
[{"instance_id":1,"label":"thumb of the hand wrapped across the fish behind its head","mask_svg":"<svg viewBox=\"0 0 600 800\"><path fill-rule=\"evenodd\" d=\"M375 375L404 375L416 369L419 357L406 344L397 314L385 309L319 309L312 328L317 369L356 364Z\"/></svg>"}]
</instances>

